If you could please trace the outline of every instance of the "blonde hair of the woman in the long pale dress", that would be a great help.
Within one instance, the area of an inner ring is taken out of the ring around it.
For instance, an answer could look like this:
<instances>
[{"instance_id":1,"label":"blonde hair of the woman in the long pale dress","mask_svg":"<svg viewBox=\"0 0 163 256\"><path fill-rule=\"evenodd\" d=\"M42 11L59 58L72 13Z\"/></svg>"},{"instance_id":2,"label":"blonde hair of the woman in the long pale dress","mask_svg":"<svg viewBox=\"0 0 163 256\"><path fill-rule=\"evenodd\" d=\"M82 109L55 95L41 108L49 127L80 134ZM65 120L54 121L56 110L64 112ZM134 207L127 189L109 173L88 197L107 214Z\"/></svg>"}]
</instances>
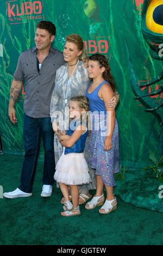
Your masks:
<instances>
[{"instance_id":1,"label":"blonde hair of the woman in the long pale dress","mask_svg":"<svg viewBox=\"0 0 163 256\"><path fill-rule=\"evenodd\" d=\"M82 54L80 54L79 56L79 60L82 60L84 62L88 58L84 41L80 35L78 34L67 35L66 41L73 42L73 44L76 44L76 46L78 47L78 50L82 51Z\"/></svg>"}]
</instances>

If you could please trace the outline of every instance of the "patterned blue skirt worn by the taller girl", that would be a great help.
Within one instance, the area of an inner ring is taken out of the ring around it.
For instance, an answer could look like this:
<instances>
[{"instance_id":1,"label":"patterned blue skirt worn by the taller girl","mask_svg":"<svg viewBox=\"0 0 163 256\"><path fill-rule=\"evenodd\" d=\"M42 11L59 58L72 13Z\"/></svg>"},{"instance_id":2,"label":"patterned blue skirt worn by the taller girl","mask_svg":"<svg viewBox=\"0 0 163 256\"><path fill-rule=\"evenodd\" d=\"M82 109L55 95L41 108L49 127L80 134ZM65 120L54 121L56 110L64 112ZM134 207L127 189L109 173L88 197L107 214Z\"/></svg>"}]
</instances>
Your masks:
<instances>
[{"instance_id":1,"label":"patterned blue skirt worn by the taller girl","mask_svg":"<svg viewBox=\"0 0 163 256\"><path fill-rule=\"evenodd\" d=\"M116 185L114 174L119 172L120 165L117 120L115 120L115 128L112 135L112 148L105 151L106 117L101 119L99 123L94 119L92 118L91 121L91 134L87 138L87 158L92 169L96 169L96 175L101 176L104 184L114 187Z\"/></svg>"}]
</instances>

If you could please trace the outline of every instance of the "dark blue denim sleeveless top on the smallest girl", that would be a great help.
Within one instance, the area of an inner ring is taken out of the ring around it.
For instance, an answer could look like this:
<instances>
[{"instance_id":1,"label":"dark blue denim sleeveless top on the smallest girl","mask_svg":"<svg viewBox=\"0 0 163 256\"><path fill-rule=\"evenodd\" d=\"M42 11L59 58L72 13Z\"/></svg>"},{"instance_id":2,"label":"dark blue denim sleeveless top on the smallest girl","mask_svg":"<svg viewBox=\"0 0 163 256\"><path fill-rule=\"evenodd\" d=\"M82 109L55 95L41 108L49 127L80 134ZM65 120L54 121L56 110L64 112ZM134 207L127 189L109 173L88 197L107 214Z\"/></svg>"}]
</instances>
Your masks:
<instances>
[{"instance_id":1,"label":"dark blue denim sleeveless top on the smallest girl","mask_svg":"<svg viewBox=\"0 0 163 256\"><path fill-rule=\"evenodd\" d=\"M85 126L86 124L83 123ZM72 120L69 124L68 130L66 130L66 135L71 136L72 133L77 129L79 125L82 125L82 122L76 120ZM85 131L80 138L73 144L70 148L65 148L65 155L70 153L83 153L85 148L85 141L88 135L88 130Z\"/></svg>"}]
</instances>

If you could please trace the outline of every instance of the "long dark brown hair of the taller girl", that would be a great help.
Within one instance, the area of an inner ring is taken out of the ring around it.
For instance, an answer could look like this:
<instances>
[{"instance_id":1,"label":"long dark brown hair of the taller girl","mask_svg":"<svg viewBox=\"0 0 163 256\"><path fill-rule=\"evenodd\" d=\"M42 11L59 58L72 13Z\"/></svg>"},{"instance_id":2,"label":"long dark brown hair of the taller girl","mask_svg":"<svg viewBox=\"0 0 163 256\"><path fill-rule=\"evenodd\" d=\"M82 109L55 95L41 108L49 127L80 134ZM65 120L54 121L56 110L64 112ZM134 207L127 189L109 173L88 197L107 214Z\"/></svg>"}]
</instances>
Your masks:
<instances>
[{"instance_id":1,"label":"long dark brown hair of the taller girl","mask_svg":"<svg viewBox=\"0 0 163 256\"><path fill-rule=\"evenodd\" d=\"M97 54L93 54L92 56L90 56L89 60L98 62L100 68L102 68L104 66L105 71L103 72L103 78L104 78L104 80L106 80L110 83L113 92L115 92L116 87L115 87L114 79L111 75L111 70L110 70L108 59L106 59L106 57L104 55L97 53Z\"/></svg>"}]
</instances>

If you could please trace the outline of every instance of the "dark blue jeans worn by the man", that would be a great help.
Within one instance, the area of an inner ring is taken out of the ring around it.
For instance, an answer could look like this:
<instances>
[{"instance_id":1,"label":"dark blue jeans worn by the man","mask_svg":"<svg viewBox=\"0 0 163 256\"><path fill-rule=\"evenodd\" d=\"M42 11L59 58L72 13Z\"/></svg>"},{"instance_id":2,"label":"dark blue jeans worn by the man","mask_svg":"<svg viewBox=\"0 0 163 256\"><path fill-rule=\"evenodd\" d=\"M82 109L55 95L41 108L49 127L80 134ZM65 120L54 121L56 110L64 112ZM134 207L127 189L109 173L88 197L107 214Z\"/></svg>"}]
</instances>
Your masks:
<instances>
[{"instance_id":1,"label":"dark blue jeans worn by the man","mask_svg":"<svg viewBox=\"0 0 163 256\"><path fill-rule=\"evenodd\" d=\"M43 139L43 148L45 151L42 181L45 185L53 185L54 183L54 132L51 118L32 118L24 114L23 136L26 153L22 167L21 185L18 188L23 192L31 193L41 138Z\"/></svg>"}]
</instances>

